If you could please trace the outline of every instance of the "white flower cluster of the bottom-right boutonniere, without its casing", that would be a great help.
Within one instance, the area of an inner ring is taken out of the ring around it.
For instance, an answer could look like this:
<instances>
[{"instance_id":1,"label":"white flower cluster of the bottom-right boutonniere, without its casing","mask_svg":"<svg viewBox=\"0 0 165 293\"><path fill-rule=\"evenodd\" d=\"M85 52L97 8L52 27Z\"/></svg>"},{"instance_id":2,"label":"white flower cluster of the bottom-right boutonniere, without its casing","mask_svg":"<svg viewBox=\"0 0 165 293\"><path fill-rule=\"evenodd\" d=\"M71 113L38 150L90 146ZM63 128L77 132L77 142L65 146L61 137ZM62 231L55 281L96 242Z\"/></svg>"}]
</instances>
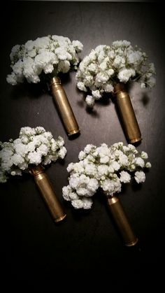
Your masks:
<instances>
[{"instance_id":1,"label":"white flower cluster of the bottom-right boutonniere, without its casing","mask_svg":"<svg viewBox=\"0 0 165 293\"><path fill-rule=\"evenodd\" d=\"M71 201L74 208L91 208L91 197L99 187L106 196L113 196L121 191L122 183L145 181L145 168L148 154L138 152L134 145L123 145L122 142L108 147L102 143L99 147L88 144L78 155L80 162L67 167L70 173L69 185L62 189L66 201Z\"/></svg>"}]
</instances>

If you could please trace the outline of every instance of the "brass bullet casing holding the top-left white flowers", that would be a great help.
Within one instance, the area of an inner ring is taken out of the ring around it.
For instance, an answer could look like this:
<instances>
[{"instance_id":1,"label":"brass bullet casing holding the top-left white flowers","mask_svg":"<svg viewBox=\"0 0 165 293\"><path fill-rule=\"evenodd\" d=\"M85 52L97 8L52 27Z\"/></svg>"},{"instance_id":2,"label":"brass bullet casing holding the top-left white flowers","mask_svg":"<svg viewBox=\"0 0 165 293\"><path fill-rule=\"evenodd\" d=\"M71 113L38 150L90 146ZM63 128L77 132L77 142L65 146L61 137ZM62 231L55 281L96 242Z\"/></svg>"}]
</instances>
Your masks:
<instances>
[{"instance_id":1,"label":"brass bullet casing holding the top-left white flowers","mask_svg":"<svg viewBox=\"0 0 165 293\"><path fill-rule=\"evenodd\" d=\"M68 98L66 97L66 93L61 85L61 81L59 78L52 78L50 80L50 90L52 92L52 97L55 99L55 103L59 110L59 114L62 117L62 121L64 123L64 127L69 136L73 134L78 134L80 129L78 127L78 122L76 121L76 117L73 114L73 110L69 103Z\"/></svg>"}]
</instances>

